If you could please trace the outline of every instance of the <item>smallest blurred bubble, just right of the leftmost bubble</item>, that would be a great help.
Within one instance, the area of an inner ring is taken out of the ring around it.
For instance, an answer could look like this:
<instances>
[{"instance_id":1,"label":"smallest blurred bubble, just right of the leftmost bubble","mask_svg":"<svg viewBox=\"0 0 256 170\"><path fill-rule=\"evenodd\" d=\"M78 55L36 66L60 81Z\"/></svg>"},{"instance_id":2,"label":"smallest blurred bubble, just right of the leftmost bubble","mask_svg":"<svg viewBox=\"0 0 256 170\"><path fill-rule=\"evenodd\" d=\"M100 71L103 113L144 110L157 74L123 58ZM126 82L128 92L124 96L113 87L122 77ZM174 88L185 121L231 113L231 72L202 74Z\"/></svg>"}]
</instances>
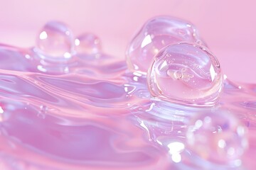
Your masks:
<instances>
[{"instance_id":1,"label":"smallest blurred bubble, just right of the leftmost bubble","mask_svg":"<svg viewBox=\"0 0 256 170\"><path fill-rule=\"evenodd\" d=\"M75 52L78 54L97 54L101 51L100 38L92 33L85 33L75 38Z\"/></svg>"}]
</instances>

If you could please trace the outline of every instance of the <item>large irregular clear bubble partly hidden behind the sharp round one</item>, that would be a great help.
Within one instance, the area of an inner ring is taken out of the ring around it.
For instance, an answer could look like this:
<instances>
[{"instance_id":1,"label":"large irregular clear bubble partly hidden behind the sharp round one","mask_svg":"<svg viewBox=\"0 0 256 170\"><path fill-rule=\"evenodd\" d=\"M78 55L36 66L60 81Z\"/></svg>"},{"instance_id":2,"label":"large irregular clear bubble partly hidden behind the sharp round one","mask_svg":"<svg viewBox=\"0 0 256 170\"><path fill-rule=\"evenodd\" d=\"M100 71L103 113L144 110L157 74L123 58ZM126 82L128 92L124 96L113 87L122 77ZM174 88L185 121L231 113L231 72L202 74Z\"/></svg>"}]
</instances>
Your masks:
<instances>
[{"instance_id":1,"label":"large irregular clear bubble partly hidden behind the sharp round one","mask_svg":"<svg viewBox=\"0 0 256 170\"><path fill-rule=\"evenodd\" d=\"M160 16L147 21L133 38L127 49L129 69L146 74L161 48L174 42L203 43L196 28L187 21L168 16Z\"/></svg>"}]
</instances>

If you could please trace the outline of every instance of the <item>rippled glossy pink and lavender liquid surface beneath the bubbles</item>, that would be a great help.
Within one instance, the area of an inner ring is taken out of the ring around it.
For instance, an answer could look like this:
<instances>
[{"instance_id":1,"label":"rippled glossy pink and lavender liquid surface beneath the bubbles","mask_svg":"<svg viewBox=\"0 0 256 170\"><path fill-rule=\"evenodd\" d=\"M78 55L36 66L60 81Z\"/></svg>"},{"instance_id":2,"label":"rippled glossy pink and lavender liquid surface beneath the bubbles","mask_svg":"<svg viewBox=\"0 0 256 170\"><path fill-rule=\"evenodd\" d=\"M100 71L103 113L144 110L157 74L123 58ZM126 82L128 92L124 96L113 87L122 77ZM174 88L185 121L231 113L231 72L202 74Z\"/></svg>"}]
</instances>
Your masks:
<instances>
[{"instance_id":1,"label":"rippled glossy pink and lavender liquid surface beneath the bubbles","mask_svg":"<svg viewBox=\"0 0 256 170\"><path fill-rule=\"evenodd\" d=\"M58 55L48 42L0 46L0 169L254 169L255 84L225 79L210 108L161 101L151 97L144 74L101 52L97 37L83 40L84 48L67 51L65 44ZM187 141L191 120L220 111L247 131L249 147L232 164L211 145L202 157Z\"/></svg>"}]
</instances>

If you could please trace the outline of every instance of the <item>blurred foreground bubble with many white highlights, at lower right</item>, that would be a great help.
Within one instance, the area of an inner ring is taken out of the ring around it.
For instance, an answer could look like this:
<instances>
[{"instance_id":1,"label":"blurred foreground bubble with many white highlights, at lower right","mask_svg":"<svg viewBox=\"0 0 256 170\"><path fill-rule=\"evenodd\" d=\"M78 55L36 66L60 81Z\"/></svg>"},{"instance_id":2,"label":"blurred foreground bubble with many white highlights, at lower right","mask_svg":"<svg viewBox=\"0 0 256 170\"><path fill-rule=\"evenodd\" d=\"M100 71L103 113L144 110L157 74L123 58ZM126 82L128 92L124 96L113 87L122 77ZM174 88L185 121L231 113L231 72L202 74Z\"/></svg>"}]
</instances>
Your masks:
<instances>
[{"instance_id":1,"label":"blurred foreground bubble with many white highlights, at lower right","mask_svg":"<svg viewBox=\"0 0 256 170\"><path fill-rule=\"evenodd\" d=\"M227 112L203 113L191 120L186 134L188 147L202 159L235 164L247 148L247 129Z\"/></svg>"}]
</instances>

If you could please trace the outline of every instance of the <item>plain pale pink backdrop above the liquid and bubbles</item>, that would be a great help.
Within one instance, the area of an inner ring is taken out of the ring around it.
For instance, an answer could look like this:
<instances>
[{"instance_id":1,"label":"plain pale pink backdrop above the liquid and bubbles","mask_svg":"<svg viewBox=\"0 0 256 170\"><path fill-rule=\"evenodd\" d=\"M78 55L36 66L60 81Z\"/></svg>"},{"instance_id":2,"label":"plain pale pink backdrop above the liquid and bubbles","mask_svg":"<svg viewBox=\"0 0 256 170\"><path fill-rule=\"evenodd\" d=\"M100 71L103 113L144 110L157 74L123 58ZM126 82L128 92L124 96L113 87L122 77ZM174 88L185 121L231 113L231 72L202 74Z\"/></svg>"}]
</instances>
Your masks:
<instances>
[{"instance_id":1,"label":"plain pale pink backdrop above the liquid and bubbles","mask_svg":"<svg viewBox=\"0 0 256 170\"><path fill-rule=\"evenodd\" d=\"M194 23L229 79L256 83L256 2L208 0L0 1L0 42L33 46L50 20L67 23L75 35L100 36L105 52L124 57L127 43L152 16Z\"/></svg>"}]
</instances>

